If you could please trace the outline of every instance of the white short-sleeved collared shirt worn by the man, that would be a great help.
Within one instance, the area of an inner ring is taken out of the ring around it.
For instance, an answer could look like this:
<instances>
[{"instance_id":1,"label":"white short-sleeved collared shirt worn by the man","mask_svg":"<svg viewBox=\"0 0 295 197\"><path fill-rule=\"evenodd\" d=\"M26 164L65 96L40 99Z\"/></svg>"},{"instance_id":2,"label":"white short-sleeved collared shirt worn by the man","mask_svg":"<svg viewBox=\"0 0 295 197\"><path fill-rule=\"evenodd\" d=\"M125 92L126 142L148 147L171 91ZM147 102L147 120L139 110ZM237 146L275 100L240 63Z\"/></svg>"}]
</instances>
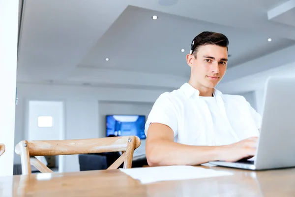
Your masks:
<instances>
[{"instance_id":1,"label":"white short-sleeved collared shirt worn by the man","mask_svg":"<svg viewBox=\"0 0 295 197\"><path fill-rule=\"evenodd\" d=\"M243 96L216 89L214 97L199 95L189 83L162 94L148 115L146 135L150 123L167 125L174 141L187 145L226 145L259 135L262 118Z\"/></svg>"}]
</instances>

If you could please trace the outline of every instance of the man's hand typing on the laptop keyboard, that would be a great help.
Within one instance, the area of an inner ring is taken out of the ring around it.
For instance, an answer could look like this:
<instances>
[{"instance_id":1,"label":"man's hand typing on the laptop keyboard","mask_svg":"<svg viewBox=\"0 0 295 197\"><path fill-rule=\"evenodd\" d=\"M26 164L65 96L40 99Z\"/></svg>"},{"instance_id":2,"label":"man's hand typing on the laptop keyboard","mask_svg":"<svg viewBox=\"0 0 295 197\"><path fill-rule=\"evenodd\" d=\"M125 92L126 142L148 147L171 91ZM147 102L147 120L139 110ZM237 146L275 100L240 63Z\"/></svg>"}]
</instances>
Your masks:
<instances>
[{"instance_id":1,"label":"man's hand typing on the laptop keyboard","mask_svg":"<svg viewBox=\"0 0 295 197\"><path fill-rule=\"evenodd\" d=\"M258 137L249 137L234 144L223 146L225 151L220 157L221 161L236 162L241 159L250 159L256 154Z\"/></svg>"}]
</instances>

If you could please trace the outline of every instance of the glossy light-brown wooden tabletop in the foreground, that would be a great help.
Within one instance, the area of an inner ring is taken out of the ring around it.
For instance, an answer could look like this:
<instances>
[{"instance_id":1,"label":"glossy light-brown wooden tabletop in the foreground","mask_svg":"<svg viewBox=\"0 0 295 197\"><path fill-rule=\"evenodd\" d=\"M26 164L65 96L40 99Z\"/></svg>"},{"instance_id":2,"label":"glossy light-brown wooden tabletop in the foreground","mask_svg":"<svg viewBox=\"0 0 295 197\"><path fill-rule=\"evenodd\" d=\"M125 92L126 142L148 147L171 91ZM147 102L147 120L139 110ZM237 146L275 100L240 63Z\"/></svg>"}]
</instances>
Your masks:
<instances>
[{"instance_id":1,"label":"glossy light-brown wooden tabletop in the foreground","mask_svg":"<svg viewBox=\"0 0 295 197\"><path fill-rule=\"evenodd\" d=\"M0 177L0 196L29 197L295 197L295 168L234 172L232 176L141 184L115 170Z\"/></svg>"}]
</instances>

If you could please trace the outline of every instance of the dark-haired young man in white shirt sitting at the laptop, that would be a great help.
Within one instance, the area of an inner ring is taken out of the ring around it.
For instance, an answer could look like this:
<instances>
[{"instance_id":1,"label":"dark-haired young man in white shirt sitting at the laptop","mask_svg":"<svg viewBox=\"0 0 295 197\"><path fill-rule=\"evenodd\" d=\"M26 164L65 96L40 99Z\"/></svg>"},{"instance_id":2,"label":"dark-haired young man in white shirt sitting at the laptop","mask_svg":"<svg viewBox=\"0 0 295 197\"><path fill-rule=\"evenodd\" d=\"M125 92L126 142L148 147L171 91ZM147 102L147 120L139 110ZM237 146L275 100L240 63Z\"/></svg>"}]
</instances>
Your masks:
<instances>
[{"instance_id":1,"label":"dark-haired young man in white shirt sitting at the laptop","mask_svg":"<svg viewBox=\"0 0 295 197\"><path fill-rule=\"evenodd\" d=\"M149 165L235 162L254 156L261 116L244 97L214 88L226 71L228 44L221 33L203 32L194 38L186 56L189 82L162 94L148 115Z\"/></svg>"}]
</instances>

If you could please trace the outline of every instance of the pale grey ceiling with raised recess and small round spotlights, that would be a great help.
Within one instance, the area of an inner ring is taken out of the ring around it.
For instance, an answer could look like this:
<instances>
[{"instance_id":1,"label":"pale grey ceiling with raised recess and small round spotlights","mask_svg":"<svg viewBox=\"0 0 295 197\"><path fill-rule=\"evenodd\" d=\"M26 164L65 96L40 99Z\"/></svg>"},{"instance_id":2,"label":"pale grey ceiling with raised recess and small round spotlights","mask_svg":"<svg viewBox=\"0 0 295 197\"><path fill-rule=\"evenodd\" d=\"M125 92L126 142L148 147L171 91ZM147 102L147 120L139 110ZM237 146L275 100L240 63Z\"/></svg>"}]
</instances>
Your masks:
<instances>
[{"instance_id":1,"label":"pale grey ceiling with raised recess and small round spotlights","mask_svg":"<svg viewBox=\"0 0 295 197\"><path fill-rule=\"evenodd\" d=\"M283 23L292 13L268 18L286 2L24 0L18 81L173 89L188 80L185 56L203 31L228 36L228 69L295 45L295 27Z\"/></svg>"}]
</instances>

